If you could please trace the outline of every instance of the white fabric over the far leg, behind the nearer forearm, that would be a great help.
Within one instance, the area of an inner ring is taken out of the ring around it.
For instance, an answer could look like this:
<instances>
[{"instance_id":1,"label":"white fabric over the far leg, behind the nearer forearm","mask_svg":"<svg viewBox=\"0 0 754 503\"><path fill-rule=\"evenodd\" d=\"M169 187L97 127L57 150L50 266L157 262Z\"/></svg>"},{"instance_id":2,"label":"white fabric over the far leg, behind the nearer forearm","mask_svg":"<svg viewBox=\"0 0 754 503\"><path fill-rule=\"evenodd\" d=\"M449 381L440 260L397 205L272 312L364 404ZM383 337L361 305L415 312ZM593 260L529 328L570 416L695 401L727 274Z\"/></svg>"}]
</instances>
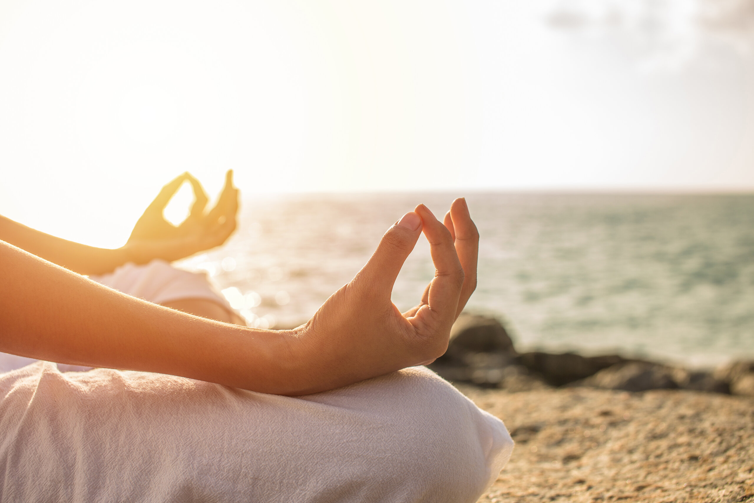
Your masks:
<instances>
[{"instance_id":1,"label":"white fabric over the far leg, behind the nearer forearm","mask_svg":"<svg viewBox=\"0 0 754 503\"><path fill-rule=\"evenodd\" d=\"M109 274L93 275L89 279L155 304L178 299L207 299L222 305L228 311L234 312L206 273L176 269L161 259L152 260L145 265L135 265L128 262ZM35 361L38 360L16 356L15 354L0 353L0 372L20 369ZM81 372L91 368L66 363L58 363L57 365L61 372Z\"/></svg>"}]
</instances>

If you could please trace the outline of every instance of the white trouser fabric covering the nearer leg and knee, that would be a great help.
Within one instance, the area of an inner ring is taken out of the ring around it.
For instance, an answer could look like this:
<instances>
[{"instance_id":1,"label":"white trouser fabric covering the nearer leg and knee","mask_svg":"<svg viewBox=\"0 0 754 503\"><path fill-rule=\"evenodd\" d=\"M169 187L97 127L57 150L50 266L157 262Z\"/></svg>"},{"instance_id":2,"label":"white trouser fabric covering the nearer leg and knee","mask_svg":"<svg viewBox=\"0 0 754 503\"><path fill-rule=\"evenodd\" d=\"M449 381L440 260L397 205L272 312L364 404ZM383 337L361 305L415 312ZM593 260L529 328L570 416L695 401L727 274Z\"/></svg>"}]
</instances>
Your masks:
<instances>
[{"instance_id":1,"label":"white trouser fabric covering the nearer leg and knee","mask_svg":"<svg viewBox=\"0 0 754 503\"><path fill-rule=\"evenodd\" d=\"M2 501L473 503L513 441L424 367L305 397L38 362L0 375Z\"/></svg>"}]
</instances>

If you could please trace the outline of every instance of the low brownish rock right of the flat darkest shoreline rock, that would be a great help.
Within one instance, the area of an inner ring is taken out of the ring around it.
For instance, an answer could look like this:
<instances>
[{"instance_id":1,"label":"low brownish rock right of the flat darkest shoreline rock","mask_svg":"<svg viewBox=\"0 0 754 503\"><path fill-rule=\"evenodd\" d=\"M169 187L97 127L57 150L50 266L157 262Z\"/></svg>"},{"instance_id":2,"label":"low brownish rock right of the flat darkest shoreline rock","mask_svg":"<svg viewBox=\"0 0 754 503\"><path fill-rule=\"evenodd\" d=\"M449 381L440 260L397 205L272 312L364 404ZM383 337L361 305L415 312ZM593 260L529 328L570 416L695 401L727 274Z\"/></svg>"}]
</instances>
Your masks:
<instances>
[{"instance_id":1,"label":"low brownish rock right of the flat darkest shoreline rock","mask_svg":"<svg viewBox=\"0 0 754 503\"><path fill-rule=\"evenodd\" d=\"M625 391L675 389L678 388L678 383L673 379L673 370L657 363L628 361L600 370L578 382L578 385Z\"/></svg>"}]
</instances>

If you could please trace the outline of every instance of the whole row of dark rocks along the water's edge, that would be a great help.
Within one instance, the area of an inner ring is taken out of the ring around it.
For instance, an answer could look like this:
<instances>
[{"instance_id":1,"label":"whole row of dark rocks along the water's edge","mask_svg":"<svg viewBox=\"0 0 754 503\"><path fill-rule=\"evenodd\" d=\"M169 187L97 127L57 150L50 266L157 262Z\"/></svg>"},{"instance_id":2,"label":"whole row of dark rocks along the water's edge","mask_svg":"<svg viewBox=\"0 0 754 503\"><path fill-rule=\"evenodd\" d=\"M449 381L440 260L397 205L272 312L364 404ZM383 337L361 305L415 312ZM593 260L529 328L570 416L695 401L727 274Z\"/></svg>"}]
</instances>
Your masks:
<instances>
[{"instance_id":1,"label":"whole row of dark rocks along the water's edge","mask_svg":"<svg viewBox=\"0 0 754 503\"><path fill-rule=\"evenodd\" d=\"M453 325L446 353L428 367L449 381L507 391L563 385L627 391L682 388L716 393L735 388L737 394L754 396L754 362L732 363L710 374L627 360L617 354L517 354L498 320L468 313L461 313Z\"/></svg>"}]
</instances>

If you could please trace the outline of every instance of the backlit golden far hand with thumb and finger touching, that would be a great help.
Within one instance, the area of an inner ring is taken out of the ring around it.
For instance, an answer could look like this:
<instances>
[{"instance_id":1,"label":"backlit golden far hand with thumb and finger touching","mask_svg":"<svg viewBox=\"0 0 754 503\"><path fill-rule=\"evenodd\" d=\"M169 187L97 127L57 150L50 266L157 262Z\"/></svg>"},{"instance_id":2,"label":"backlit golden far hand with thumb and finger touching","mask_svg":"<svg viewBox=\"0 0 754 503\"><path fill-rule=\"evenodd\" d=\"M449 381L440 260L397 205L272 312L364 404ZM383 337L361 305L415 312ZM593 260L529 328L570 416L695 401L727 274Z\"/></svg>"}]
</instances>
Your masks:
<instances>
[{"instance_id":1,"label":"backlit golden far hand with thumb and finger touching","mask_svg":"<svg viewBox=\"0 0 754 503\"><path fill-rule=\"evenodd\" d=\"M185 181L192 184L195 201L189 216L176 226L167 222L163 210ZM134 225L124 247L129 258L136 263L157 258L171 262L225 243L236 228L238 213L238 189L233 187L232 170L225 175L217 204L204 214L207 201L198 179L189 173L177 176L161 189Z\"/></svg>"}]
</instances>

